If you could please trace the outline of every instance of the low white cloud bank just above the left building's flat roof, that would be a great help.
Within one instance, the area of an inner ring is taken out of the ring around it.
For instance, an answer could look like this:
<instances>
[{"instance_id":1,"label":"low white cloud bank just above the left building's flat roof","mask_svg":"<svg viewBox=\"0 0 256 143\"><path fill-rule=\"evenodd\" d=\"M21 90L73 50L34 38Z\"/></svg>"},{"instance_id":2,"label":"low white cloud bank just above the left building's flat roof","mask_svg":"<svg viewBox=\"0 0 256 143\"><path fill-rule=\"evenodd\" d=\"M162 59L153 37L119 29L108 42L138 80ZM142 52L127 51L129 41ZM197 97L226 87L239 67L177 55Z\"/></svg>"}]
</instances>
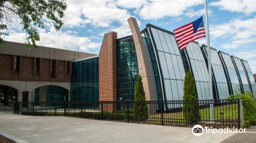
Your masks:
<instances>
[{"instance_id":1,"label":"low white cloud bank just above the left building's flat roof","mask_svg":"<svg viewBox=\"0 0 256 143\"><path fill-rule=\"evenodd\" d=\"M54 31L51 29L50 32L41 32L40 41L37 45L54 47L58 49L66 49L72 51L81 51L90 53L91 50L98 48L101 43L92 42L88 37L79 37L74 33ZM9 32L9 36L3 37L7 41L14 42L25 42L26 34L18 33L13 30ZM97 53L96 53L97 54Z\"/></svg>"}]
</instances>

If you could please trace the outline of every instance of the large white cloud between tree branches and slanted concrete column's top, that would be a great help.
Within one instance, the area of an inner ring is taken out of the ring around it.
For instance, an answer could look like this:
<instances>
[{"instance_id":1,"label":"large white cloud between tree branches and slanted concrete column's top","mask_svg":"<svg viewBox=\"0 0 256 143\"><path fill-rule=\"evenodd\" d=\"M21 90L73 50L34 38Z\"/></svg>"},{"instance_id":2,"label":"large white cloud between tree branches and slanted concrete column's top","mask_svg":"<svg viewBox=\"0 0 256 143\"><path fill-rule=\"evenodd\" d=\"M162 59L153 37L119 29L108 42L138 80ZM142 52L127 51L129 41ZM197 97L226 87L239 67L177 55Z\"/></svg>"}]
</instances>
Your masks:
<instances>
[{"instance_id":1,"label":"large white cloud between tree branches and slanted concrete column's top","mask_svg":"<svg viewBox=\"0 0 256 143\"><path fill-rule=\"evenodd\" d=\"M142 2L143 1L141 1L141 3ZM132 3L132 1L68 1L68 9L65 12L65 18L63 18L64 26L83 27L90 23L94 27L110 27L113 22L124 25L131 14L128 10L119 8L118 5L122 6L130 3Z\"/></svg>"}]
</instances>

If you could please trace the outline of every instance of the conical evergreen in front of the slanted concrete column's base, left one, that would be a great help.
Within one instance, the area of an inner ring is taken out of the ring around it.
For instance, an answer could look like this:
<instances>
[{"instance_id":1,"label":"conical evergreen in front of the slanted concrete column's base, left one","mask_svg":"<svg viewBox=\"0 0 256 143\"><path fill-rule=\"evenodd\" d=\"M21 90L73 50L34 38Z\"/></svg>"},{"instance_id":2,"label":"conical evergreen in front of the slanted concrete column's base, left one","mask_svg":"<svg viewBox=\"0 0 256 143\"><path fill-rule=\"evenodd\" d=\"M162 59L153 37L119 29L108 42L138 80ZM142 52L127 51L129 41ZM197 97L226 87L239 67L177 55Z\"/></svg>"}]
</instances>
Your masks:
<instances>
[{"instance_id":1,"label":"conical evergreen in front of the slanted concrete column's base, left one","mask_svg":"<svg viewBox=\"0 0 256 143\"><path fill-rule=\"evenodd\" d=\"M147 105L145 103L146 97L143 88L142 78L139 75L137 84L135 86L135 104L134 104L134 116L139 120L147 119Z\"/></svg>"}]
</instances>

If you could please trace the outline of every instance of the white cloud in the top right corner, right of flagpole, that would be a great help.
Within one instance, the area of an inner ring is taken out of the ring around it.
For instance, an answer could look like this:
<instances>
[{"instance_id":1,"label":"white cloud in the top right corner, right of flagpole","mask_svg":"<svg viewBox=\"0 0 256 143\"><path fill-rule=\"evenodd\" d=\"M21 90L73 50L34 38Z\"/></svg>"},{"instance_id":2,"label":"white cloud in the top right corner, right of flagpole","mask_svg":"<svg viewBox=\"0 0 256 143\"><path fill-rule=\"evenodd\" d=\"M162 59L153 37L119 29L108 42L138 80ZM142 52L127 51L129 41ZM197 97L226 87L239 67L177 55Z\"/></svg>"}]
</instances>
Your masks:
<instances>
[{"instance_id":1,"label":"white cloud in the top right corner, right of flagpole","mask_svg":"<svg viewBox=\"0 0 256 143\"><path fill-rule=\"evenodd\" d=\"M256 12L255 0L220 0L217 2L211 2L209 5L231 12L243 12L245 14Z\"/></svg>"}]
</instances>

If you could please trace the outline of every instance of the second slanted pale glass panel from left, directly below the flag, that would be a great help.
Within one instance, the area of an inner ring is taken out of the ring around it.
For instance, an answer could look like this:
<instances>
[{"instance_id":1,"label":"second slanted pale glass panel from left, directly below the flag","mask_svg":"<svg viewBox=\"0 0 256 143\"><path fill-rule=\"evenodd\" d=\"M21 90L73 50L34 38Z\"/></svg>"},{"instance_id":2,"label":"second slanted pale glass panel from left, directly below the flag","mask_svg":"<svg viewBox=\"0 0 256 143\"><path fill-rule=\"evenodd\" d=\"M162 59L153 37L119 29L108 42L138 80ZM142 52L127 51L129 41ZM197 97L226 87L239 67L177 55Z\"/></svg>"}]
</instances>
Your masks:
<instances>
[{"instance_id":1,"label":"second slanted pale glass panel from left, directly below the flag","mask_svg":"<svg viewBox=\"0 0 256 143\"><path fill-rule=\"evenodd\" d=\"M209 74L199 44L191 42L187 45L185 51L190 62L191 71L196 81L198 99L211 99L209 93Z\"/></svg>"}]
</instances>

